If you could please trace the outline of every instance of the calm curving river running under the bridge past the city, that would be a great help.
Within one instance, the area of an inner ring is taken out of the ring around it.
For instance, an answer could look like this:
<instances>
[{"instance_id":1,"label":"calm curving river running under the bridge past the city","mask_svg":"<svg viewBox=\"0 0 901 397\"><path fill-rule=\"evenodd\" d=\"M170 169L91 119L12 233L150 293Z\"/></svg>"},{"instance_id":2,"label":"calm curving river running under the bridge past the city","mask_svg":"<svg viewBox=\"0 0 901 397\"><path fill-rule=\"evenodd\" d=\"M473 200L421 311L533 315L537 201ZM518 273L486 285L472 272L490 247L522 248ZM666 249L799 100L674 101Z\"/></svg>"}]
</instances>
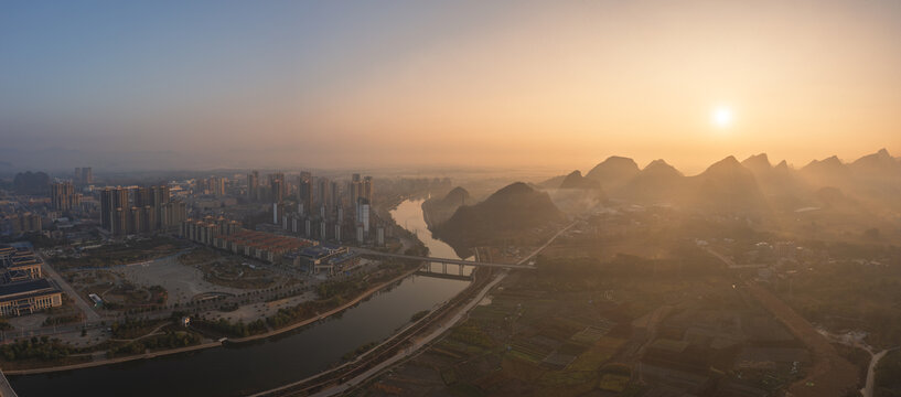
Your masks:
<instances>
[{"instance_id":1,"label":"calm curving river running under the bridge past the city","mask_svg":"<svg viewBox=\"0 0 901 397\"><path fill-rule=\"evenodd\" d=\"M421 201L391 211L431 256L457 258L432 239ZM457 267L449 266L453 270ZM432 269L441 265L432 265ZM471 271L465 269L466 273ZM450 271L449 271L450 272ZM19 396L243 396L328 369L363 344L382 341L410 316L462 291L469 281L410 276L341 314L267 340L62 373L11 376Z\"/></svg>"}]
</instances>

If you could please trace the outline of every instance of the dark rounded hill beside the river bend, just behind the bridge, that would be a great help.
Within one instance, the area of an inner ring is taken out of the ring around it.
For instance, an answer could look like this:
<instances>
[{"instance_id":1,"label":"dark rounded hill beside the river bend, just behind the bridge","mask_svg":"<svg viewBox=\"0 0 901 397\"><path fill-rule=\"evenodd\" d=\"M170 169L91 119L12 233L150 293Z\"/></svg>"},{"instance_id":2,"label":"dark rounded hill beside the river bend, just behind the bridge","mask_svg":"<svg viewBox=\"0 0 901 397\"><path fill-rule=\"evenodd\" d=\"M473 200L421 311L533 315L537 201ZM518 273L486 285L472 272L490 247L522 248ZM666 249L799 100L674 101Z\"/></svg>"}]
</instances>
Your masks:
<instances>
[{"instance_id":1,"label":"dark rounded hill beside the river bend, just behind the bridge","mask_svg":"<svg viewBox=\"0 0 901 397\"><path fill-rule=\"evenodd\" d=\"M562 219L564 213L554 205L547 193L516 182L481 203L459 207L432 233L460 251L476 244L516 238L534 227Z\"/></svg>"}]
</instances>

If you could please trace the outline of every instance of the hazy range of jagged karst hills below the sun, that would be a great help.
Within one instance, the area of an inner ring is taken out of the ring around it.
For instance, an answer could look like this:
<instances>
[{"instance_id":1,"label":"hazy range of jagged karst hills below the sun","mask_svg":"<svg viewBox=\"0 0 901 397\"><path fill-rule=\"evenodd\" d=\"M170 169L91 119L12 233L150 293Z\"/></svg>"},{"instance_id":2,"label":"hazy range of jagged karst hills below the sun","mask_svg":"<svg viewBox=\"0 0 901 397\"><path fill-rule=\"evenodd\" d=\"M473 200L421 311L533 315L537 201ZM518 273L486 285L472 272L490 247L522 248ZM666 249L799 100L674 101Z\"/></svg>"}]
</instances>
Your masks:
<instances>
[{"instance_id":1,"label":"hazy range of jagged karst hills below the sun","mask_svg":"<svg viewBox=\"0 0 901 397\"><path fill-rule=\"evenodd\" d=\"M728 157L695 176L683 175L663 160L637 172L632 164L631 159L612 157L589 176L607 181L611 189L605 192L612 198L645 205L668 203L734 214L794 213L805 207L843 213L901 211L901 159L886 149L850 163L837 157L814 160L801 170L784 160L773 165L766 153L742 162Z\"/></svg>"}]
</instances>

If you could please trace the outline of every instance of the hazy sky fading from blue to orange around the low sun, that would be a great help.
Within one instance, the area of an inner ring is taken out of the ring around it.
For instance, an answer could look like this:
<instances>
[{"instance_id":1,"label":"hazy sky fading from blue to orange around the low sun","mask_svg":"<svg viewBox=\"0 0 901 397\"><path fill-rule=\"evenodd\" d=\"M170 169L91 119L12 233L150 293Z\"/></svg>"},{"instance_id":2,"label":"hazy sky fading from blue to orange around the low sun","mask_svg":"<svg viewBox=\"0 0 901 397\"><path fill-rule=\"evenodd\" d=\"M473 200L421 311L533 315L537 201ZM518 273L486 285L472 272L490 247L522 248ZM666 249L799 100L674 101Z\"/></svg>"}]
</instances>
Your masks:
<instances>
[{"instance_id":1,"label":"hazy sky fading from blue to orange around the low sun","mask_svg":"<svg viewBox=\"0 0 901 397\"><path fill-rule=\"evenodd\" d=\"M4 1L0 168L899 155L899 37L889 0Z\"/></svg>"}]
</instances>

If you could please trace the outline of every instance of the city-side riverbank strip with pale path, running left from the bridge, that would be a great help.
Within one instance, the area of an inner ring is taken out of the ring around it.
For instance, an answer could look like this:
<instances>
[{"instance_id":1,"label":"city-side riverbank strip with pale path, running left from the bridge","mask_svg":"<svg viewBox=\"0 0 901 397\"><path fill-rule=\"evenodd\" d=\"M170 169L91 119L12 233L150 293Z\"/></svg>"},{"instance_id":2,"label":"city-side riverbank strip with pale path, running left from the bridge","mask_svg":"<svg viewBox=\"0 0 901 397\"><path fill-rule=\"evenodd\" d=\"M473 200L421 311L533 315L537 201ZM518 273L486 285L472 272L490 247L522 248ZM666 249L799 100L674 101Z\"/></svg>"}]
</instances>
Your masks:
<instances>
[{"instance_id":1,"label":"city-side riverbank strip with pale path, running left from the bridge","mask_svg":"<svg viewBox=\"0 0 901 397\"><path fill-rule=\"evenodd\" d=\"M250 335L250 336L238 337L238 339L225 339L224 342L219 342L219 341L208 342L208 343L202 343L202 344L193 345L193 346L170 348L170 350L164 350L164 351L159 351L159 352L150 352L150 353L132 355L132 356L106 358L106 360L93 361L93 362L87 362L87 363L62 365L62 366L51 366L51 367L44 367L44 368L11 369L11 371L3 371L3 373L9 375L9 376L47 374L47 373L54 373L54 372L64 372L64 371L73 371L73 369L82 369L82 368L90 368L90 367L97 367L97 366L104 366L104 365L119 364L119 363L126 363L126 362L138 361L138 360L154 358L154 357L161 357L161 356L167 356L167 355L172 355L172 354L180 354L180 353L185 353L185 352L206 350L206 348L212 348L212 347L219 347L224 343L238 344L238 343L248 343L248 342L259 341L259 340L264 340L264 339L267 339L267 337L272 337L272 336L276 336L276 335L280 335L280 334L283 334L286 332L290 332L290 331L297 330L299 328L310 325L310 324L312 324L312 323L314 323L317 321L325 320L325 319L328 319L328 318L330 318L332 315L339 314L339 313L341 313L341 312L343 312L343 311L345 311L347 309L353 308L354 305L358 304L363 300L372 297L374 293L376 293L376 292L378 292L378 291L394 285L395 282L401 281L401 280L406 279L407 277L412 276L418 270L419 270L418 268L408 270L408 271L401 273L400 276L395 277L394 279L385 281L385 282L383 282L383 283L380 283L378 286L375 286L375 287L364 291L363 293L361 293L356 298L347 301L346 303L344 303L344 304L342 304L342 305L340 305L340 307L337 307L335 309L326 311L325 313L321 313L321 314L319 314L317 316L309 318L309 319L305 319L305 320L301 320L301 321L299 321L297 323L293 323L293 324L290 324L290 325L287 325L287 326L282 326L280 329L272 330L272 331L269 331L269 332L266 332L266 333L257 334L257 335Z\"/></svg>"}]
</instances>

